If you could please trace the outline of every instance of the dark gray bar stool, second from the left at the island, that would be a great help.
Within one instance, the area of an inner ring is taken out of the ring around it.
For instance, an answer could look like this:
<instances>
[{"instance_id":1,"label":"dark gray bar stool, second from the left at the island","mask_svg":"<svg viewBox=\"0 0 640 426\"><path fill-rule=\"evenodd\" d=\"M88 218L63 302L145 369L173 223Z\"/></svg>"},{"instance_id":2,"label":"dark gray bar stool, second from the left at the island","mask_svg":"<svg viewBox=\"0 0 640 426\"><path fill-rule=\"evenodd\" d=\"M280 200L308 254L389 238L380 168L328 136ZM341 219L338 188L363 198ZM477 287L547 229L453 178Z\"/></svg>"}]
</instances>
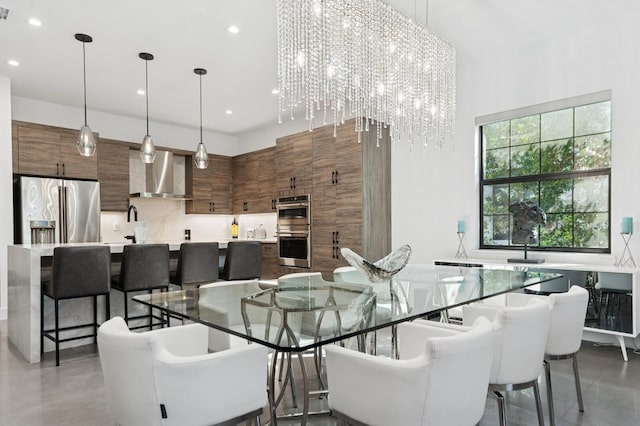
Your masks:
<instances>
[{"instance_id":1,"label":"dark gray bar stool, second from the left at the island","mask_svg":"<svg viewBox=\"0 0 640 426\"><path fill-rule=\"evenodd\" d=\"M153 290L167 291L169 289L169 245L168 244L131 244L124 246L120 275L113 277L111 288L124 293L124 320L149 318L148 325L131 327L132 330L154 325L164 326L166 319L154 316L151 307L148 315L129 316L129 295L131 292ZM153 323L153 320L160 320Z\"/></svg>"}]
</instances>

